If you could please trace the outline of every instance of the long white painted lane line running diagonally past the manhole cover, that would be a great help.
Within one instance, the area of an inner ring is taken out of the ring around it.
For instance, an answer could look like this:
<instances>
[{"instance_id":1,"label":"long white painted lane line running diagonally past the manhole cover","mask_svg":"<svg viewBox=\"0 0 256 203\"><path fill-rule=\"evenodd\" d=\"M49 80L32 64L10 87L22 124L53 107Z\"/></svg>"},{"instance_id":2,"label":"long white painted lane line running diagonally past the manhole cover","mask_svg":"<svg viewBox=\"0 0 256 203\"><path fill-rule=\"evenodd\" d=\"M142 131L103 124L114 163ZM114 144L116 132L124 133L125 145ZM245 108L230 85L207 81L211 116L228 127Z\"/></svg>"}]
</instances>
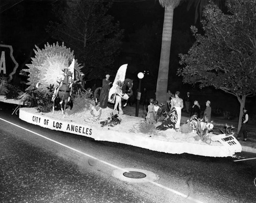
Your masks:
<instances>
[{"instance_id":1,"label":"long white painted lane line running diagonally past the manhole cover","mask_svg":"<svg viewBox=\"0 0 256 203\"><path fill-rule=\"evenodd\" d=\"M53 140L53 139L50 139L50 138L45 137L45 136L43 136L43 135L40 135L40 134L38 134L38 133L36 133L36 132L30 131L30 130L28 130L28 129L25 129L25 128L23 128L22 126L19 126L19 125L17 125L17 124L14 124L14 123L12 123L12 122L10 122L10 121L8 121L8 120L5 120L5 119L3 119L3 118L0 118L0 120L3 120L3 121L5 121L5 122L8 122L8 123L10 123L10 124L12 124L12 125L17 126L17 127L20 128L20 129L23 129L23 130L25 130L25 131L28 131L28 132L33 133L33 134L35 134L35 135L38 135L39 137L45 138L45 139L47 139L47 140L50 140L50 141L52 141L52 142L54 142L54 143L56 143L56 144L59 144L59 145L64 146L64 147L67 147L67 148L69 148L69 149L71 149L71 150L76 151L77 153L80 153L80 154L82 154L82 155L85 155L85 156L87 156L87 157L90 157L90 158L92 158L92 159L95 159L95 160L97 160L97 161L99 161L99 162L101 162L101 163L104 163L104 164L106 164L106 165L112 166L113 168L122 170L122 171L124 171L124 172L129 172L129 171L126 171L126 170L124 170L124 169L122 169L122 168L120 168L120 167L118 167L118 166L115 166L115 165L110 164L110 163L108 163L108 162L102 161L102 160L100 160L100 159L98 159L98 158L96 158L96 157L93 157L93 156L91 156L91 155L88 155L88 154L86 154L86 153L83 153L82 151L79 151L79 150L77 150L77 149L74 149L74 148L72 148L72 147L70 147L70 146L68 146L68 145L66 145L66 144L62 144L62 143L57 142L57 141L55 141L55 140ZM185 195L185 194L183 194L183 193L181 193L181 192L178 192L178 191L176 191L176 190L173 190L173 189L170 189L170 188L168 188L168 187L165 187L165 186L163 186L163 185L161 185L161 184L159 184L159 183L155 183L155 182L153 182L153 181L150 181L150 182L148 182L148 183L152 183L153 185L156 185L156 186L158 186L158 187L160 187L160 188L163 188L163 189L165 189L165 190L167 190L167 191L173 192L173 193L175 193L175 194L177 194L177 195L180 195L180 196L182 196L182 197L185 197L185 198L187 198L187 199L190 199L190 200L192 200L192 201L194 201L194 202L196 202L196 203L203 203L202 201L200 201L200 200L198 200L198 199L195 199L195 198L193 198L193 197L189 197L189 196L187 196L187 195Z\"/></svg>"}]
</instances>

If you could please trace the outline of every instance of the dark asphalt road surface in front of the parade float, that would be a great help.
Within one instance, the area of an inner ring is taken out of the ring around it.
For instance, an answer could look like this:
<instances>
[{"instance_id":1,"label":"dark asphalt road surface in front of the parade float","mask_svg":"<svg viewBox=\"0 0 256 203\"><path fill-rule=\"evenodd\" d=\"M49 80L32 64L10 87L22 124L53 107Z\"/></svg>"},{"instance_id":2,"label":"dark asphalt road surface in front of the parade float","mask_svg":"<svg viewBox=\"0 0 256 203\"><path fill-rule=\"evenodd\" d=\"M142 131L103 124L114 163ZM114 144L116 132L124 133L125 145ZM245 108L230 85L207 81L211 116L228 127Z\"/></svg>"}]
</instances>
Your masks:
<instances>
[{"instance_id":1,"label":"dark asphalt road surface in front of the parade float","mask_svg":"<svg viewBox=\"0 0 256 203\"><path fill-rule=\"evenodd\" d=\"M26 123L11 115L15 107L0 103L0 202L255 202L256 155L172 155L98 142ZM114 175L125 168L158 179Z\"/></svg>"}]
</instances>

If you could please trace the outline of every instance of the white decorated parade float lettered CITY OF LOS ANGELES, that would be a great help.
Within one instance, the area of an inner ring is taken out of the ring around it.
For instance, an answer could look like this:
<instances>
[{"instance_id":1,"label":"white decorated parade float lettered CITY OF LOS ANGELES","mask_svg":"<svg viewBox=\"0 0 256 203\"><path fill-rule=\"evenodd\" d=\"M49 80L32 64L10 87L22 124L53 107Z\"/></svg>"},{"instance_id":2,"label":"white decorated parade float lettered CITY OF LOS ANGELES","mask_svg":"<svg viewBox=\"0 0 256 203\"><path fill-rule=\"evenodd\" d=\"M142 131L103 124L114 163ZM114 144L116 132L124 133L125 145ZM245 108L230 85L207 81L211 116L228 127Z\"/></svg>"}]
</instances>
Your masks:
<instances>
[{"instance_id":1,"label":"white decorated parade float lettered CITY OF LOS ANGELES","mask_svg":"<svg viewBox=\"0 0 256 203\"><path fill-rule=\"evenodd\" d=\"M83 77L80 71L82 67L69 48L63 44L47 44L45 49L36 48L32 64L27 64L29 69L26 69L30 77L29 88L19 96L22 102L28 104L28 107L19 108L20 119L42 128L162 153L232 157L242 151L229 126L226 132L215 135L211 133L214 128L211 122L193 118L183 123L178 132L174 129L159 131L156 127L161 124L160 121L147 123L144 117L122 113L121 106L100 108L91 92L81 87L79 79ZM127 64L124 64L117 71L109 92L111 103L117 96L116 92L121 91L117 89L121 88L120 83L124 83L126 68ZM57 82L59 75L65 69L69 72L66 77L68 87L62 91L67 92L66 98L56 92L60 86ZM129 98L129 95L125 96L124 99Z\"/></svg>"}]
</instances>

